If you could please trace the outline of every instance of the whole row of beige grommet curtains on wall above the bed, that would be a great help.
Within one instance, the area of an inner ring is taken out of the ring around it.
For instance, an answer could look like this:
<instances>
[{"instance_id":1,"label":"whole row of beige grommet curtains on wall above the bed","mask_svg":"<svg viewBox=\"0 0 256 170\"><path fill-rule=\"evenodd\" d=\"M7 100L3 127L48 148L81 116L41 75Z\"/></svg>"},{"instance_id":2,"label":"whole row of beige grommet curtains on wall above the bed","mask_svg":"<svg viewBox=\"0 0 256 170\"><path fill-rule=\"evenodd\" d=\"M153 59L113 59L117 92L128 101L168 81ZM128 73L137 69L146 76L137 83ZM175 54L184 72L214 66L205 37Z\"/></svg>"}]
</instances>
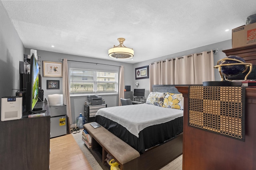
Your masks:
<instances>
[{"instance_id":1,"label":"whole row of beige grommet curtains on wall above the bed","mask_svg":"<svg viewBox=\"0 0 256 170\"><path fill-rule=\"evenodd\" d=\"M150 91L152 85L192 85L214 81L213 51L184 55L150 64Z\"/></svg>"}]
</instances>

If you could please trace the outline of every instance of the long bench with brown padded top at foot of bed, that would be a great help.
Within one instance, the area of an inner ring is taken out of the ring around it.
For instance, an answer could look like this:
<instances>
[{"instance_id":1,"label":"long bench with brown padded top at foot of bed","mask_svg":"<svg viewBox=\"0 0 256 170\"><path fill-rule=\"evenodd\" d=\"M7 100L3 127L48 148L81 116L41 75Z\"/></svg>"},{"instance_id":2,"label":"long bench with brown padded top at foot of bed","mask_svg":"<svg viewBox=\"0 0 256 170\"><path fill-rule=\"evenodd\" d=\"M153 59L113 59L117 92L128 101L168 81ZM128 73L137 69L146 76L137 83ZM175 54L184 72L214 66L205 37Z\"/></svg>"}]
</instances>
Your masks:
<instances>
[{"instance_id":1,"label":"long bench with brown padded top at foot of bed","mask_svg":"<svg viewBox=\"0 0 256 170\"><path fill-rule=\"evenodd\" d=\"M110 154L116 162L118 162L121 170L138 169L140 153L137 150L104 127L93 128L90 123L87 123L84 125L84 129L86 129L92 137L91 150L97 150L102 147L100 154L102 154L103 165L105 164L106 155ZM99 147L99 145L101 147Z\"/></svg>"}]
</instances>

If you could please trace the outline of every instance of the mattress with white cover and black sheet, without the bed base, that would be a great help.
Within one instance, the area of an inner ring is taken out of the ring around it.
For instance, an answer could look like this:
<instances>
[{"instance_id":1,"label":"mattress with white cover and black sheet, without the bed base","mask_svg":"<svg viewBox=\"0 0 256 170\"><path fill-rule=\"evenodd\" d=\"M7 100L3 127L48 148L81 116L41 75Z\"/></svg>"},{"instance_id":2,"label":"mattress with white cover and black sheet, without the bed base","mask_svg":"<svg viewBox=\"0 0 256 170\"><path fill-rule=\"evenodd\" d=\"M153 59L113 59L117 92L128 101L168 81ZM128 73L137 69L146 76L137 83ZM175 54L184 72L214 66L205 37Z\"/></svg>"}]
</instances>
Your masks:
<instances>
[{"instance_id":1,"label":"mattress with white cover and black sheet, without the bed base","mask_svg":"<svg viewBox=\"0 0 256 170\"><path fill-rule=\"evenodd\" d=\"M126 105L100 109L95 121L143 154L182 132L183 111L146 103Z\"/></svg>"}]
</instances>

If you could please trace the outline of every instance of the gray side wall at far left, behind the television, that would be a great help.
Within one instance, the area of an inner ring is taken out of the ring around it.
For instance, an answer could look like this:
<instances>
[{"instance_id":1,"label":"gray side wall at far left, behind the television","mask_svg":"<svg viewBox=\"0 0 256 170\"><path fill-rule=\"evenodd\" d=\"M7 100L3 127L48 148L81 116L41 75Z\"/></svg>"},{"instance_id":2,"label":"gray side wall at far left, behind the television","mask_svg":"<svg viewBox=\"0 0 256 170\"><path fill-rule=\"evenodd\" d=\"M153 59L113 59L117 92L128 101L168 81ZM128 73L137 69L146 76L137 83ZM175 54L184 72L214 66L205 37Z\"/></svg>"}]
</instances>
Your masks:
<instances>
[{"instance_id":1,"label":"gray side wall at far left, behind the television","mask_svg":"<svg viewBox=\"0 0 256 170\"><path fill-rule=\"evenodd\" d=\"M19 89L19 61L23 60L23 53L24 45L0 2L0 97L14 96L14 89Z\"/></svg>"}]
</instances>

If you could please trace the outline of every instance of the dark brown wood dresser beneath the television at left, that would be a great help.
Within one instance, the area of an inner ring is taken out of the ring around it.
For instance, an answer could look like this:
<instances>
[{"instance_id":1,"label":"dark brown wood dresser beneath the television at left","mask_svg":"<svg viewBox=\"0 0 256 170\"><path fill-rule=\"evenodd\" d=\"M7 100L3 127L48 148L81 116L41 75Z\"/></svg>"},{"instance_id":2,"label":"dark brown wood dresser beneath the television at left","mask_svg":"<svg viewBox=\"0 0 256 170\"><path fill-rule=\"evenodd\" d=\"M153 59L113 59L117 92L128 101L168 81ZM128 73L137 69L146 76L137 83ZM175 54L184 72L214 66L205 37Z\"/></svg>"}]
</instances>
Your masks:
<instances>
[{"instance_id":1,"label":"dark brown wood dresser beneath the television at left","mask_svg":"<svg viewBox=\"0 0 256 170\"><path fill-rule=\"evenodd\" d=\"M49 170L50 114L0 121L0 169Z\"/></svg>"}]
</instances>

